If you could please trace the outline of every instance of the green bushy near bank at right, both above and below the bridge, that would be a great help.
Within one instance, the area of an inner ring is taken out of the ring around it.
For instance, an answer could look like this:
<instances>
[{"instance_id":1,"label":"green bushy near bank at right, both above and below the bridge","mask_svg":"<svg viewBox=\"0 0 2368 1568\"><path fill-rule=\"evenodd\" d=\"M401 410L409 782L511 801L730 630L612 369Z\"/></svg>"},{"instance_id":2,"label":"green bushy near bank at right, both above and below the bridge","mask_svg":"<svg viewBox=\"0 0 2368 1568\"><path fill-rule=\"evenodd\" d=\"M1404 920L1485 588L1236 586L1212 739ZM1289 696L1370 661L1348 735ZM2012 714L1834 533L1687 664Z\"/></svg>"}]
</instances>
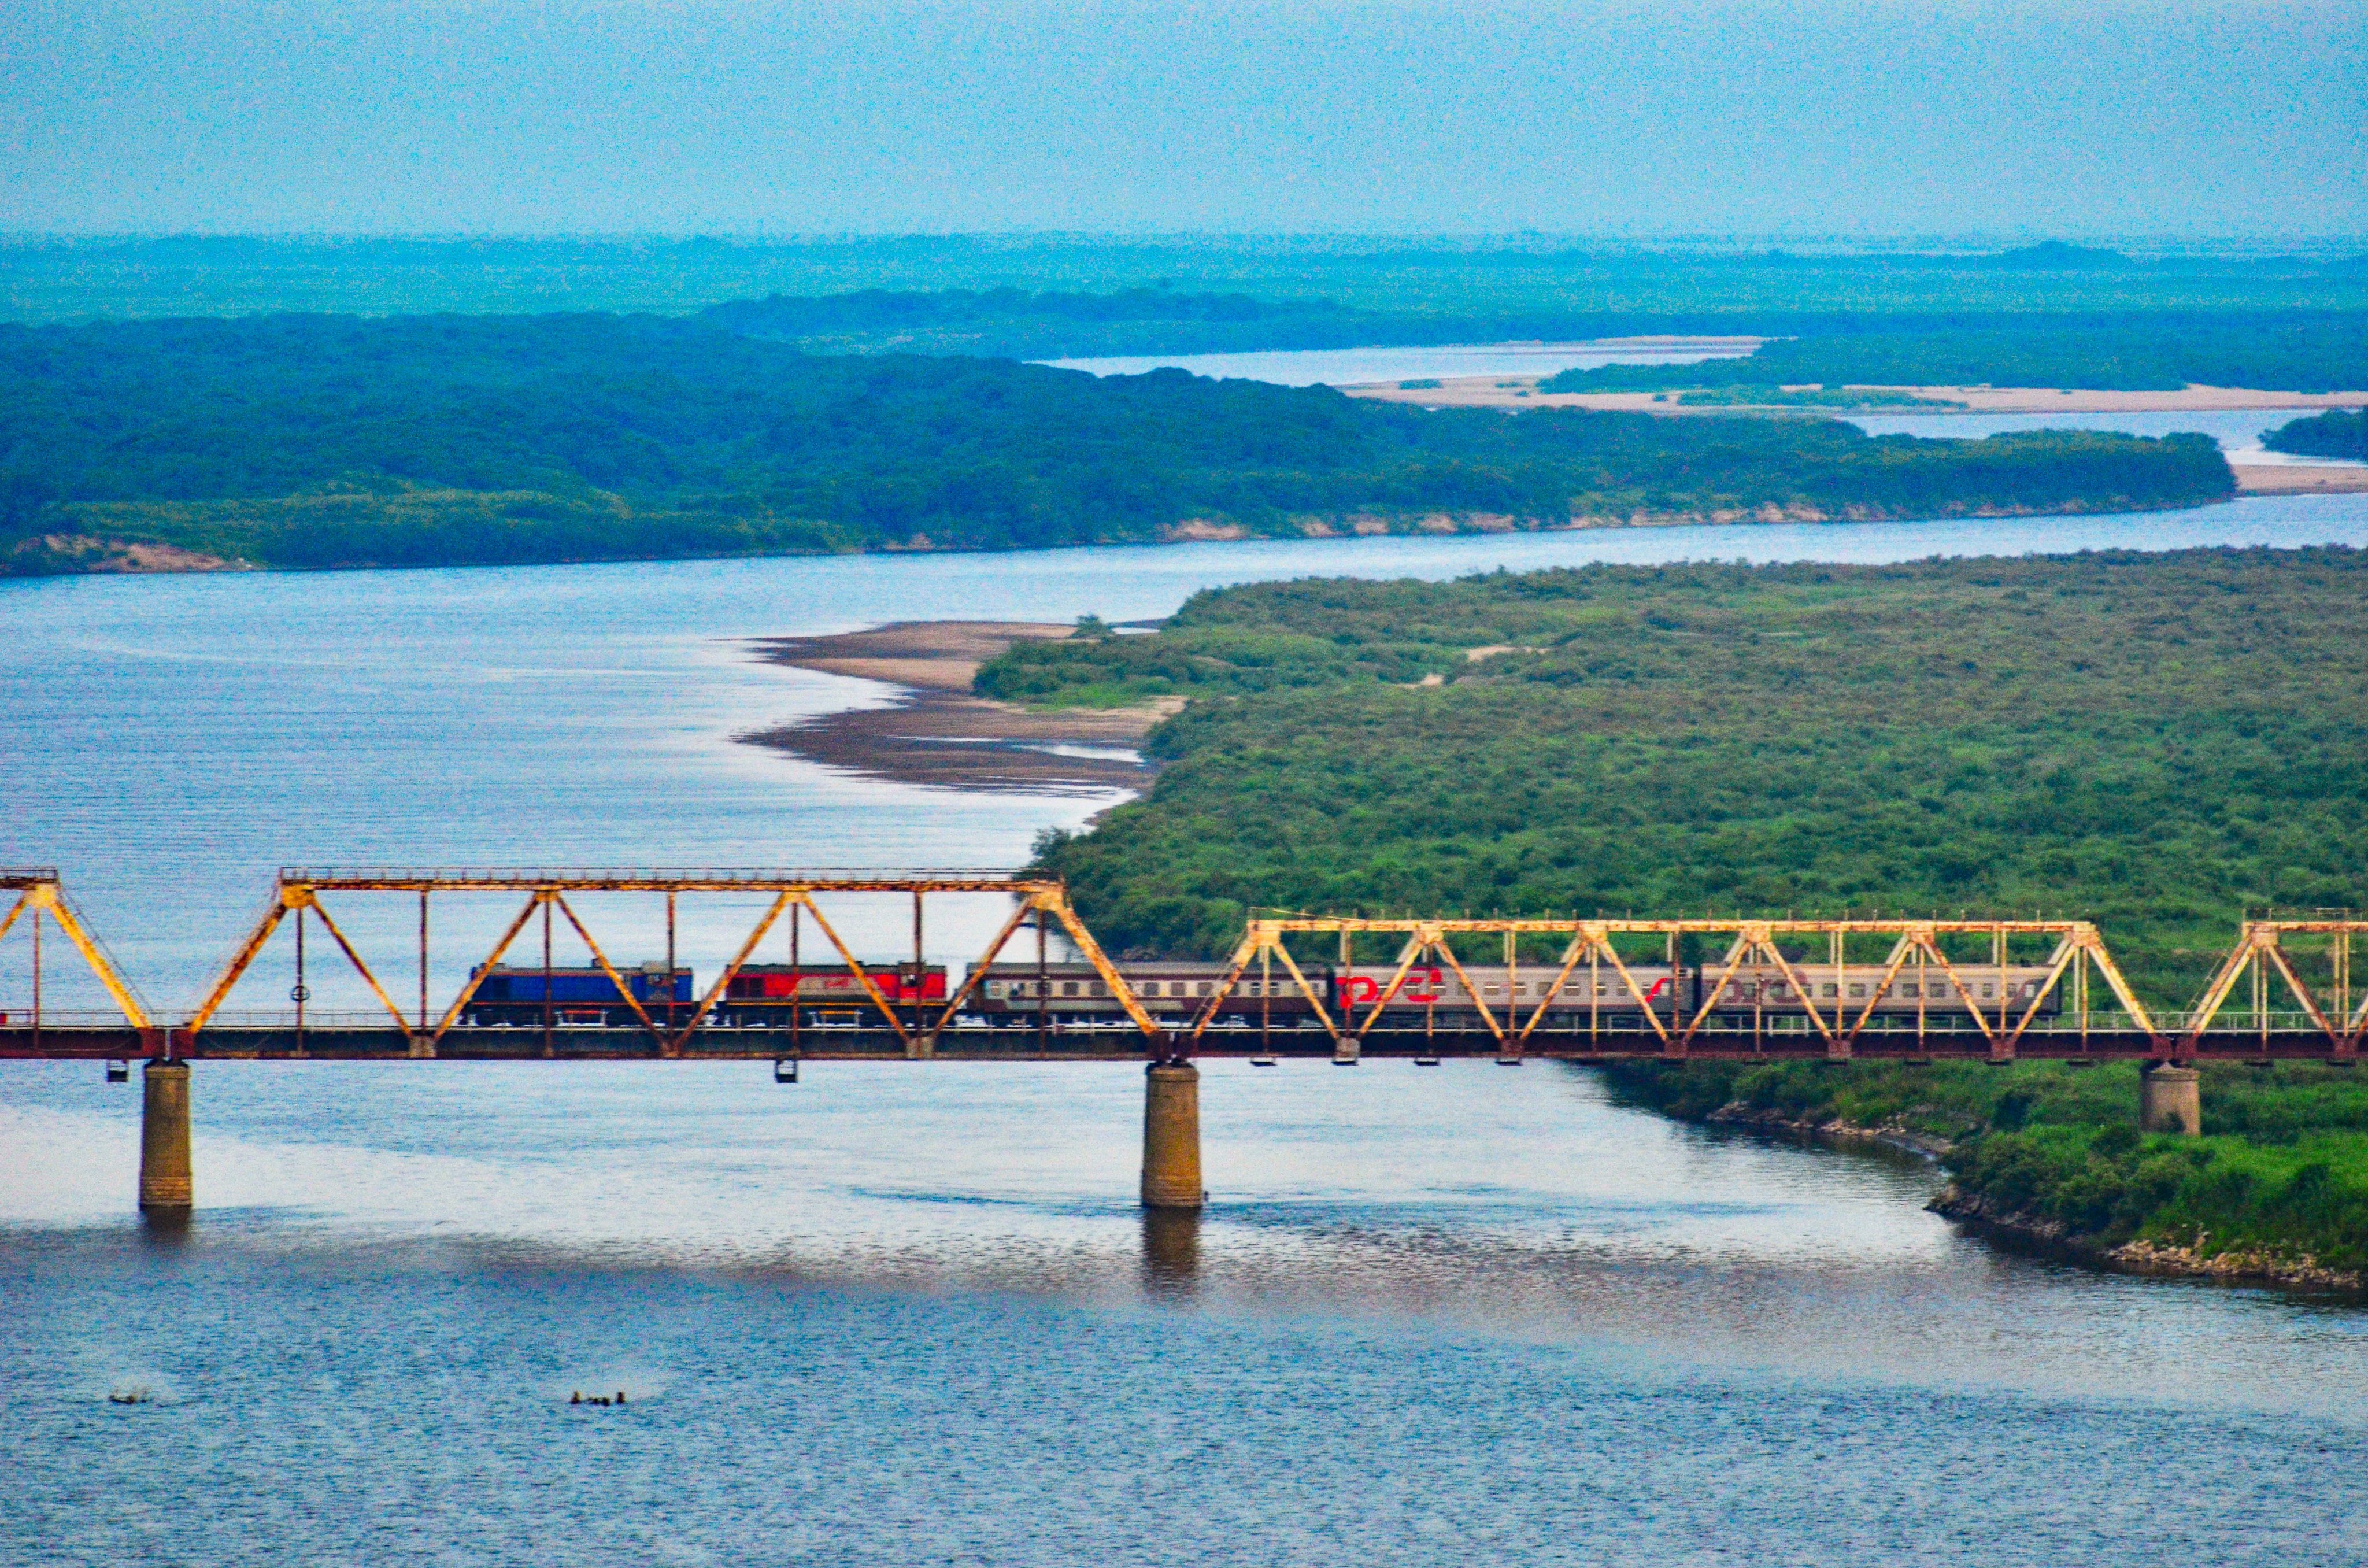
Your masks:
<instances>
[{"instance_id":1,"label":"green bushy near bank at right, both above and below the bridge","mask_svg":"<svg viewBox=\"0 0 2368 1568\"><path fill-rule=\"evenodd\" d=\"M2363 682L2351 550L1272 583L978 673L1040 703L1193 696L1144 801L1040 848L1120 950L1217 955L1253 902L2044 910L2098 919L2174 1011L2247 907L2368 905ZM1961 1184L2100 1244L2368 1262L2368 1099L2318 1068L2214 1071L2183 1149L2134 1137L2134 1085L2044 1066L1620 1080L1958 1139Z\"/></svg>"}]
</instances>

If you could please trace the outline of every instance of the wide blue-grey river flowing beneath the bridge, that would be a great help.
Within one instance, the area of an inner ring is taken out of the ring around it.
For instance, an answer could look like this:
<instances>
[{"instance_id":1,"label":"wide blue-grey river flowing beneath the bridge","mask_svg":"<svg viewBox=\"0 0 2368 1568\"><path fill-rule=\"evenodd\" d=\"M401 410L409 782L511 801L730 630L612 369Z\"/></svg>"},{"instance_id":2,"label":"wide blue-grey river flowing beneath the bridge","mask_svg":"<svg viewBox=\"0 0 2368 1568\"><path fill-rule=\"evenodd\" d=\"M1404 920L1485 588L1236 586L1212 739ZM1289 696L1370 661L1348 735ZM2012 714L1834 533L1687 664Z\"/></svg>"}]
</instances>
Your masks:
<instances>
[{"instance_id":1,"label":"wide blue-grey river flowing beneath the bridge","mask_svg":"<svg viewBox=\"0 0 2368 1568\"><path fill-rule=\"evenodd\" d=\"M1011 865L1103 805L734 744L881 699L755 635L2188 542L2368 545L2368 497L0 585L0 860L59 865L173 1011L279 862ZM481 928L438 931L443 976ZM727 940L694 921L691 962ZM1923 1213L1923 1165L1674 1127L1579 1071L1203 1090L1212 1208L1175 1232L1132 1203L1122 1066L201 1063L201 1208L159 1236L137 1092L0 1063L0 1561L2368 1559L2354 1310L2013 1258Z\"/></svg>"}]
</instances>

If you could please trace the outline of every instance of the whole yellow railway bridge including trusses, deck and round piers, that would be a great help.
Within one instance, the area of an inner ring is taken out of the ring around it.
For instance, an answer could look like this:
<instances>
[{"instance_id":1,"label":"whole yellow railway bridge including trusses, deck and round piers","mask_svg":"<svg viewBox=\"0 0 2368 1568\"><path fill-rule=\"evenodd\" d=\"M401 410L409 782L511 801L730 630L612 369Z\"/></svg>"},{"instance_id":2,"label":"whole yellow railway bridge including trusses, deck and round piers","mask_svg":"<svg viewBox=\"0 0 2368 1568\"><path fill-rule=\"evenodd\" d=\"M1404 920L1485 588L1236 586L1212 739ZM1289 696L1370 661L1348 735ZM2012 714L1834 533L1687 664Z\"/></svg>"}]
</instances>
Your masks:
<instances>
[{"instance_id":1,"label":"whole yellow railway bridge including trusses, deck and round piers","mask_svg":"<svg viewBox=\"0 0 2368 1568\"><path fill-rule=\"evenodd\" d=\"M796 1082L805 1061L1144 1061L1144 1206L1198 1208L1198 1056L2141 1061L2141 1123L2198 1132L2198 1061L2351 1063L2368 1035L2368 995L2351 985L2351 943L2368 919L2351 914L2242 921L2195 1004L2157 1014L2084 919L1253 914L1227 964L1163 988L1101 950L1063 883L999 872L289 867L197 1007L168 1016L109 957L54 869L0 869L5 895L0 943L14 933L28 945L31 995L0 1009L0 1056L99 1059L109 1078L144 1063L140 1206L154 1217L192 1206L189 1063L206 1059L765 1059L779 1082ZM478 921L497 936L455 955L450 933L438 936L438 900L450 912L488 898L507 900L507 917ZM620 947L620 900L637 905L639 919L623 921L639 928L632 940L663 940L663 957ZM876 933L881 900L909 905L909 964L867 962L843 931L852 914ZM1002 919L961 981L933 992L919 983L931 969L926 917L947 900L990 900ZM587 919L594 902L611 907ZM732 926L713 981L691 988L680 936L699 905L708 936L713 905L746 926ZM104 1014L50 1004L45 966L64 957L59 940L104 992ZM504 969L521 940L523 962ZM734 983L758 973L767 940L791 976L817 955L843 1004L803 1004L798 978L786 1007L734 1007ZM1006 957L1014 943L1018 957ZM1096 1011L1054 1000L1054 945L1063 966L1092 973L1068 992L1082 985ZM606 1004L590 1016L559 995L561 957L599 976ZM287 1004L234 1009L268 966L291 978ZM632 978L646 971L663 985ZM540 1000L523 1014L488 1009L483 990L502 973L526 976ZM997 988L997 973L1018 983ZM360 1007L320 1007L317 981ZM990 1002L992 990L1004 997Z\"/></svg>"}]
</instances>

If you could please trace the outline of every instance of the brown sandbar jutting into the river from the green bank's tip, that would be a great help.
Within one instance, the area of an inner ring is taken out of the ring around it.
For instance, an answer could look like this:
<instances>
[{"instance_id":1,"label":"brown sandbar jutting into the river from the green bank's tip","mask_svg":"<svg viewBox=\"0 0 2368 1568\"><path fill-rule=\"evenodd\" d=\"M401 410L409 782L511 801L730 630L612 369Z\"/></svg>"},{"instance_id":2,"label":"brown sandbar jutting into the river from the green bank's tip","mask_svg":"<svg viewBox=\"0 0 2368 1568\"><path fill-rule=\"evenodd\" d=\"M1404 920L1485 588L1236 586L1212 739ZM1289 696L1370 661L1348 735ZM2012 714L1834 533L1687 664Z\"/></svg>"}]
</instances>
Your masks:
<instances>
[{"instance_id":1,"label":"brown sandbar jutting into the river from the green bank's tip","mask_svg":"<svg viewBox=\"0 0 2368 1568\"><path fill-rule=\"evenodd\" d=\"M1156 767L1134 748L1182 701L1044 711L971 696L978 666L1014 642L1073 632L1035 621L900 621L834 637L767 637L758 642L767 663L879 680L897 689L897 701L824 713L741 739L831 767L942 789L1144 789Z\"/></svg>"}]
</instances>

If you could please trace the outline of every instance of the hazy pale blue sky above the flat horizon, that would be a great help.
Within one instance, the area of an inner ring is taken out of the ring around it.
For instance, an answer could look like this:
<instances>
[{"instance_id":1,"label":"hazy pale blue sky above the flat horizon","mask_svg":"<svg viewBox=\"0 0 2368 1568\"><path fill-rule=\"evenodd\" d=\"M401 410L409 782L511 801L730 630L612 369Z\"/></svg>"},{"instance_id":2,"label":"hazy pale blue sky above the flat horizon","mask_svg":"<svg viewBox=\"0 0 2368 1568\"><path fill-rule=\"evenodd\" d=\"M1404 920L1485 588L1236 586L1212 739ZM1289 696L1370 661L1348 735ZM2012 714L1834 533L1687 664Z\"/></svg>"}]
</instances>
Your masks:
<instances>
[{"instance_id":1,"label":"hazy pale blue sky above the flat horizon","mask_svg":"<svg viewBox=\"0 0 2368 1568\"><path fill-rule=\"evenodd\" d=\"M2359 0L12 0L0 230L2368 234Z\"/></svg>"}]
</instances>

